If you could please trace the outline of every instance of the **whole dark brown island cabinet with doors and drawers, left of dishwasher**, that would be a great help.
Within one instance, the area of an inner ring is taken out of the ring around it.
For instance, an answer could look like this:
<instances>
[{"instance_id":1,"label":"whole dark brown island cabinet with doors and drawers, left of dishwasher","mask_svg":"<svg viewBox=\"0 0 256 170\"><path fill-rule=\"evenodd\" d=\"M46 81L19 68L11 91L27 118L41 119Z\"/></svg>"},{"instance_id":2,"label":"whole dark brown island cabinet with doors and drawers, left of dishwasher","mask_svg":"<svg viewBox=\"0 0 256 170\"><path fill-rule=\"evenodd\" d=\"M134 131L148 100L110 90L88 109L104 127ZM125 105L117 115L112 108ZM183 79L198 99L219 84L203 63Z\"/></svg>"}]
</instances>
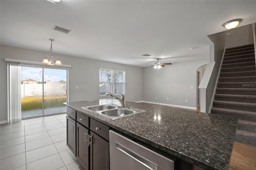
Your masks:
<instances>
[{"instance_id":1,"label":"whole dark brown island cabinet with doors and drawers, left of dishwasher","mask_svg":"<svg viewBox=\"0 0 256 170\"><path fill-rule=\"evenodd\" d=\"M67 146L85 170L109 170L109 129L67 107Z\"/></svg>"}]
</instances>

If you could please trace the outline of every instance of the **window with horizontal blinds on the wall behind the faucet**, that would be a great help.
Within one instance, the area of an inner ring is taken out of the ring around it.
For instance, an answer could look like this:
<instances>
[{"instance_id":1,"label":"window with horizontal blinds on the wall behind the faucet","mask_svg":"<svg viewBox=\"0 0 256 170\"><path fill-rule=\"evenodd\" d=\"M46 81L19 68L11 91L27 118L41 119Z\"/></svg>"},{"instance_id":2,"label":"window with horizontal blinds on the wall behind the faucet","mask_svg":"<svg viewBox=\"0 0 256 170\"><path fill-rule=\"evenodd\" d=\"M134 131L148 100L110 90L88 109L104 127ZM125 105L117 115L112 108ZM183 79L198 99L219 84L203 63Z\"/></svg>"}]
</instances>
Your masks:
<instances>
[{"instance_id":1,"label":"window with horizontal blinds on the wall behind the faucet","mask_svg":"<svg viewBox=\"0 0 256 170\"><path fill-rule=\"evenodd\" d=\"M100 95L125 93L125 71L100 69Z\"/></svg>"}]
</instances>

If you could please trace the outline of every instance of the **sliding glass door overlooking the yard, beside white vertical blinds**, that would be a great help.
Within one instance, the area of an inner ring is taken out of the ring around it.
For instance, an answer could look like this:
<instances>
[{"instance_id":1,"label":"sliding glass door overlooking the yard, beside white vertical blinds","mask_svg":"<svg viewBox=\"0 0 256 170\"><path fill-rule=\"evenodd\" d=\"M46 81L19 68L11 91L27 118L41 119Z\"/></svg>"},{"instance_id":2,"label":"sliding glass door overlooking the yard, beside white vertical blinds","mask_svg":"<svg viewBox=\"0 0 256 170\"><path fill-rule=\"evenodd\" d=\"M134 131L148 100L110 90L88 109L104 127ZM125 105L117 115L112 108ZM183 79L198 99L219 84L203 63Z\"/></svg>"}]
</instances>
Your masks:
<instances>
[{"instance_id":1,"label":"sliding glass door overlooking the yard, beside white vertical blinds","mask_svg":"<svg viewBox=\"0 0 256 170\"><path fill-rule=\"evenodd\" d=\"M66 112L67 69L22 66L22 118Z\"/></svg>"}]
</instances>

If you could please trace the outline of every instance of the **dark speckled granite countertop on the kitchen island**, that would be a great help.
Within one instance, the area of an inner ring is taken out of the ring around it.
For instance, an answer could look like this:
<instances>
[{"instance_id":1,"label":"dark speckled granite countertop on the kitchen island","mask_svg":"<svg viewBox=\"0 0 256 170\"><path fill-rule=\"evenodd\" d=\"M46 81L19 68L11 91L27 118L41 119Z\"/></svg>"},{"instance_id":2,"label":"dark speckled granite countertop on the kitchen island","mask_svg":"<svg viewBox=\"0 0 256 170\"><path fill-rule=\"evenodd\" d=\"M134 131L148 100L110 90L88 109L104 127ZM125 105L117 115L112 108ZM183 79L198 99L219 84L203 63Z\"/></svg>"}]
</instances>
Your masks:
<instances>
[{"instance_id":1,"label":"dark speckled granite countertop on the kitchen island","mask_svg":"<svg viewBox=\"0 0 256 170\"><path fill-rule=\"evenodd\" d=\"M149 103L126 101L126 107L146 112L115 120L82 107L119 104L116 99L64 103L164 152L204 169L226 170L235 140L237 119Z\"/></svg>"}]
</instances>

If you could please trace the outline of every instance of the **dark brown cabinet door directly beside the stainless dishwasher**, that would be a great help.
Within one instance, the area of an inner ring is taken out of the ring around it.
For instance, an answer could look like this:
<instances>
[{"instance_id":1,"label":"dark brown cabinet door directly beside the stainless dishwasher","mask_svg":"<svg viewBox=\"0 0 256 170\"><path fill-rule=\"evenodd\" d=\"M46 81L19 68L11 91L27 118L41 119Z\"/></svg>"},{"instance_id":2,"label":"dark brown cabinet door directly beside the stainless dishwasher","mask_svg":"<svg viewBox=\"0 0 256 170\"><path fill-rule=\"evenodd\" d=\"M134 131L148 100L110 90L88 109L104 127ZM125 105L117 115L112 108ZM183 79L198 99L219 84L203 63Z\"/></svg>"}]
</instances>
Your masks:
<instances>
[{"instance_id":1,"label":"dark brown cabinet door directly beside the stainless dishwasher","mask_svg":"<svg viewBox=\"0 0 256 170\"><path fill-rule=\"evenodd\" d=\"M90 169L109 170L109 143L90 131Z\"/></svg>"}]
</instances>

